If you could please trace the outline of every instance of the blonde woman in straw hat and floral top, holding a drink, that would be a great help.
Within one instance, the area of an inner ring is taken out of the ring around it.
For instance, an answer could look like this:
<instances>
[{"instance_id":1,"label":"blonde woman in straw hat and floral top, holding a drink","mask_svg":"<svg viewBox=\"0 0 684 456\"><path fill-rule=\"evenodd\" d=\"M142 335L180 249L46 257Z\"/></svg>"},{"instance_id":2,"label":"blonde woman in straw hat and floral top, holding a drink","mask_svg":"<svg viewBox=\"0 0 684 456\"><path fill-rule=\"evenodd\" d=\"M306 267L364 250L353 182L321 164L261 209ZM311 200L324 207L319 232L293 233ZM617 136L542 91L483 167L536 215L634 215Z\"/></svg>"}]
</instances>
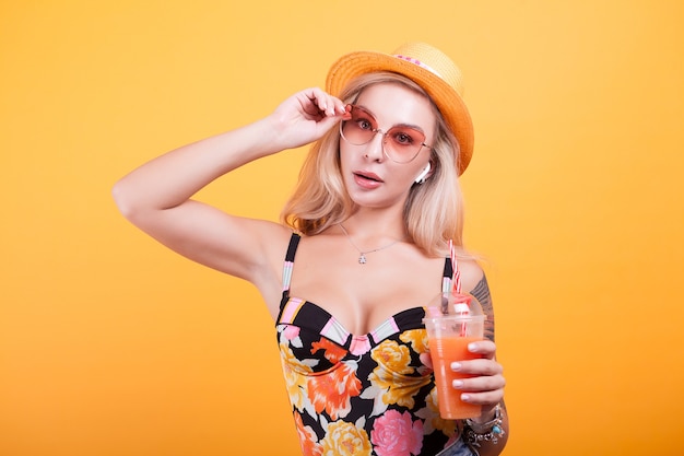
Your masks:
<instances>
[{"instance_id":1,"label":"blonde woman in straw hat and floral top, holding a drink","mask_svg":"<svg viewBox=\"0 0 684 456\"><path fill-rule=\"evenodd\" d=\"M443 52L353 52L333 65L326 92L304 90L253 124L155 159L114 195L157 241L258 288L305 455L497 455L505 379L486 280L461 238L458 176L472 138L460 72ZM190 199L246 163L311 142L282 224ZM445 261L450 246L456 264ZM455 388L482 406L467 422L439 418L422 324L445 280L488 314L488 340L470 347L482 358L452 363L473 375Z\"/></svg>"}]
</instances>

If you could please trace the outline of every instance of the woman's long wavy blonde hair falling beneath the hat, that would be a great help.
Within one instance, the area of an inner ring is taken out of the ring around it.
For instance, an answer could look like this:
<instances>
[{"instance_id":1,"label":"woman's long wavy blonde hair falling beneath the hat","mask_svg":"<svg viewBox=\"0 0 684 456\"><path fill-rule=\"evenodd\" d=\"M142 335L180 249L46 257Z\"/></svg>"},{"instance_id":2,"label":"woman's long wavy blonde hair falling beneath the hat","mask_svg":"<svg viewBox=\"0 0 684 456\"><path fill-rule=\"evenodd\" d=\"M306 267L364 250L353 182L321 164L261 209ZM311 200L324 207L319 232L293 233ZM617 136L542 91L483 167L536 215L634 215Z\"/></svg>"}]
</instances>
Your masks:
<instances>
[{"instance_id":1,"label":"woman's long wavy blonde hair falling beneath the hat","mask_svg":"<svg viewBox=\"0 0 684 456\"><path fill-rule=\"evenodd\" d=\"M351 81L340 95L344 103L354 103L361 93L375 84L402 84L429 96L412 80L396 73L376 72ZM427 256L449 254L449 239L459 257L469 257L463 249L463 208L455 157L459 144L447 127L437 106L431 101L437 118L437 139L433 141L431 162L433 175L424 184L414 184L403 210L409 241ZM281 220L305 235L315 235L341 223L354 212L340 167L340 133L331 128L315 142L299 172L299 180L285 203Z\"/></svg>"}]
</instances>

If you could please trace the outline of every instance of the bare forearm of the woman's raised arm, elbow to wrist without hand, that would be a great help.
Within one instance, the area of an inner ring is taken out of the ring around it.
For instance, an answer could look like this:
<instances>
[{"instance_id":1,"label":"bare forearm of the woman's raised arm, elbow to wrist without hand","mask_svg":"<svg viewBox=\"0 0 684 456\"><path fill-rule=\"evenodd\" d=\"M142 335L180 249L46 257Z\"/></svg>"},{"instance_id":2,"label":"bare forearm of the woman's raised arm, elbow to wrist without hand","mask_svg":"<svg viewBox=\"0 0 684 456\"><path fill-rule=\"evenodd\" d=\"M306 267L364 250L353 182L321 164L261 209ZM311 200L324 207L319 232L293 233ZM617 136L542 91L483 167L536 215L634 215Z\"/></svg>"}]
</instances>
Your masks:
<instances>
[{"instance_id":1,"label":"bare forearm of the woman's raised arm, elbow to wrist without hand","mask_svg":"<svg viewBox=\"0 0 684 456\"><path fill-rule=\"evenodd\" d=\"M117 206L127 217L177 207L217 177L278 152L274 139L267 118L176 149L121 178L113 191Z\"/></svg>"}]
</instances>

